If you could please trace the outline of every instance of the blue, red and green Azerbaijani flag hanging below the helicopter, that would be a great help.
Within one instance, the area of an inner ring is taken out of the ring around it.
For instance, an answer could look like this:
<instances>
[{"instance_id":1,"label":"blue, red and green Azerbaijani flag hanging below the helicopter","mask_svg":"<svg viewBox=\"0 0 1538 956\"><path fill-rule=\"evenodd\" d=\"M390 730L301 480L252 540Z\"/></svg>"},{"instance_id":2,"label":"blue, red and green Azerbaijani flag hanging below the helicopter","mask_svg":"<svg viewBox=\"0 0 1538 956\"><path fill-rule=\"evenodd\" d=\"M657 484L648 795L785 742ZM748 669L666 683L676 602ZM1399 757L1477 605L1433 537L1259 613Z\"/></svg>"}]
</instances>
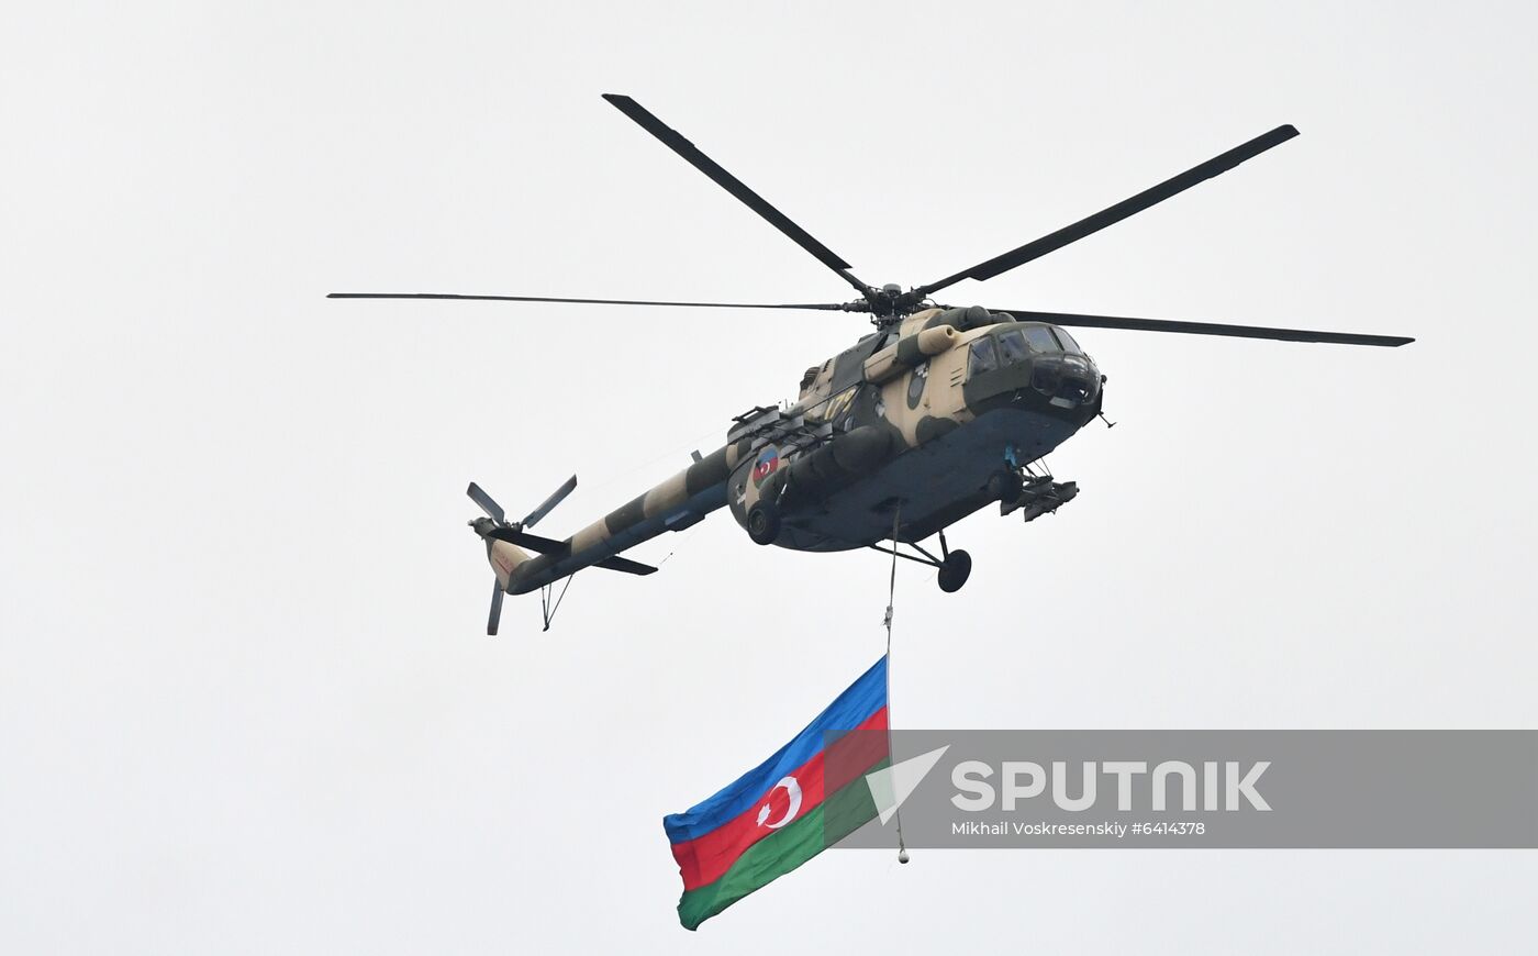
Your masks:
<instances>
[{"instance_id":1,"label":"blue, red and green Azerbaijani flag hanging below the helicopter","mask_svg":"<svg viewBox=\"0 0 1538 956\"><path fill-rule=\"evenodd\" d=\"M678 922L698 928L877 816L863 777L886 767L887 737L835 740L851 730L886 730L886 657L772 757L704 802L663 817L683 876ZM837 760L827 760L824 740L835 740Z\"/></svg>"}]
</instances>

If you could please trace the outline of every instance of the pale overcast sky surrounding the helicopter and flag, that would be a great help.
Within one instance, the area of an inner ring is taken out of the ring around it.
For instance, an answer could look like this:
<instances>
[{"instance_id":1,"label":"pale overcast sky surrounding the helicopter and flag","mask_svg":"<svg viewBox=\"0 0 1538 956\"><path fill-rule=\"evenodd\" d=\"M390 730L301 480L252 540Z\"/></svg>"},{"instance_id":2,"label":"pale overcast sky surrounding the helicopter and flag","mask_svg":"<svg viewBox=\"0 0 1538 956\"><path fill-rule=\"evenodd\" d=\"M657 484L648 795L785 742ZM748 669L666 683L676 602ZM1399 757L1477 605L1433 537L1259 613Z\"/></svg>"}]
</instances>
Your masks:
<instances>
[{"instance_id":1,"label":"pale overcast sky surrounding the helicopter and flag","mask_svg":"<svg viewBox=\"0 0 1538 956\"><path fill-rule=\"evenodd\" d=\"M1157 11L1157 12L1155 12ZM629 92L871 282L1303 135L950 302L1086 329L1083 494L898 577L906 727L1533 727L1530 5L28 5L0 34L0 948L1526 951L1530 851L831 853L698 934L661 816L881 651L886 565L723 513L491 571L789 397L860 317Z\"/></svg>"}]
</instances>

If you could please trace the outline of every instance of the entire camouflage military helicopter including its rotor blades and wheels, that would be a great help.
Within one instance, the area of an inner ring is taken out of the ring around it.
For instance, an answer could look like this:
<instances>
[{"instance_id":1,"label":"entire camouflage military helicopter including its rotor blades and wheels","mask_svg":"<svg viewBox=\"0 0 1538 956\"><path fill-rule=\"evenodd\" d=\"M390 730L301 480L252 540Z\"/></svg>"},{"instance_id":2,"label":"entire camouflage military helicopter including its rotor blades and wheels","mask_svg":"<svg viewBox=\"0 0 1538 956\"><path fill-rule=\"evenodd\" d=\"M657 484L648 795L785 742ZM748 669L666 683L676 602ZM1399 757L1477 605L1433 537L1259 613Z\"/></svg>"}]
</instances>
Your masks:
<instances>
[{"instance_id":1,"label":"entire camouflage military helicopter including its rotor blades and wheels","mask_svg":"<svg viewBox=\"0 0 1538 956\"><path fill-rule=\"evenodd\" d=\"M1064 326L1233 336L1283 342L1400 346L1413 339L1252 325L1221 325L1032 309L952 308L934 296L963 279L986 280L1084 239L1298 135L1278 126L1137 196L938 282L874 286L780 209L628 95L603 97L684 162L747 205L855 289L837 303L657 302L448 292L332 292L332 299L458 299L669 308L820 309L863 313L875 329L801 376L787 406L760 405L732 417L726 443L564 540L531 531L572 490L572 476L523 520L474 482L484 517L469 522L495 573L486 633L495 634L503 594L538 590L546 630L554 585L583 568L651 574L620 553L681 531L727 506L760 545L797 551L877 548L938 570L943 591L960 590L972 559L946 528L998 503L1024 520L1074 500L1041 459L1101 416L1106 376ZM1107 422L1109 425L1109 422ZM923 542L937 539L934 550ZM891 542L889 547L880 547ZM907 548L906 551L903 548ZM937 553L938 551L938 553ZM561 590L564 596L564 587ZM552 600L554 599L554 600Z\"/></svg>"}]
</instances>

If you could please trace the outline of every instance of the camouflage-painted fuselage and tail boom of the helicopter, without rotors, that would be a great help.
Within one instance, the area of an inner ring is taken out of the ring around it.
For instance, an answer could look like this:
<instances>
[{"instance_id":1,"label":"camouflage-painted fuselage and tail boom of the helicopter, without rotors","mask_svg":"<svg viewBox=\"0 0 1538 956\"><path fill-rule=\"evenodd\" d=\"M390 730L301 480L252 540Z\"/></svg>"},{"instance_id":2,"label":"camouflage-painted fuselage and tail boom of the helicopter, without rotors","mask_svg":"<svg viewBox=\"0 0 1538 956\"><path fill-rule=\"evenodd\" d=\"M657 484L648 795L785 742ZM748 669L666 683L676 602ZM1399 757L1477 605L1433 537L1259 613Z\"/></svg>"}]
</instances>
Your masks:
<instances>
[{"instance_id":1,"label":"camouflage-painted fuselage and tail boom of the helicopter, without rotors","mask_svg":"<svg viewBox=\"0 0 1538 956\"><path fill-rule=\"evenodd\" d=\"M1103 377L1061 329L1004 313L926 309L807 369L787 409L738 422L724 446L529 556L494 542L514 593L731 506L774 508L772 543L841 551L929 537L998 500L989 479L1035 460L1100 411ZM760 425L763 422L763 425Z\"/></svg>"}]
</instances>

